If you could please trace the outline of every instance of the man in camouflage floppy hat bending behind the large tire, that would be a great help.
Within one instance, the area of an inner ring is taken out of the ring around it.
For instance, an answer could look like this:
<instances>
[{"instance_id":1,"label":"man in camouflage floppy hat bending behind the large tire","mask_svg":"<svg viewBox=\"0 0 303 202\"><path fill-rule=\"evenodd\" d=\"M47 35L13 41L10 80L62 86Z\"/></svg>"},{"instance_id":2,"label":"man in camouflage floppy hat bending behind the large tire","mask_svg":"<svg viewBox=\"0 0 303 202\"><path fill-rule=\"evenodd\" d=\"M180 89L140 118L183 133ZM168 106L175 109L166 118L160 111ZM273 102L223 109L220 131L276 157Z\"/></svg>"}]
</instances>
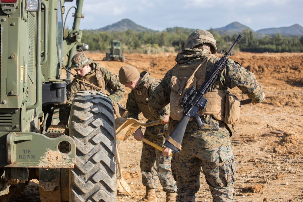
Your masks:
<instances>
[{"instance_id":1,"label":"man in camouflage floppy hat bending behind the large tire","mask_svg":"<svg viewBox=\"0 0 303 202\"><path fill-rule=\"evenodd\" d=\"M72 100L75 98L75 94L79 91L93 90L104 92L112 100L115 116L119 116L118 102L123 98L125 91L119 82L117 75L113 75L107 69L100 67L98 63L95 63L90 58L87 58L84 53L74 55L72 58L71 69L75 69L77 71L77 75L74 77L72 83L67 89L66 104L60 108L60 122L58 124L68 124ZM117 146L119 143L120 141L116 140ZM116 172L117 192L119 193L123 191L123 188L119 183L120 173L118 167Z\"/></svg>"}]
</instances>

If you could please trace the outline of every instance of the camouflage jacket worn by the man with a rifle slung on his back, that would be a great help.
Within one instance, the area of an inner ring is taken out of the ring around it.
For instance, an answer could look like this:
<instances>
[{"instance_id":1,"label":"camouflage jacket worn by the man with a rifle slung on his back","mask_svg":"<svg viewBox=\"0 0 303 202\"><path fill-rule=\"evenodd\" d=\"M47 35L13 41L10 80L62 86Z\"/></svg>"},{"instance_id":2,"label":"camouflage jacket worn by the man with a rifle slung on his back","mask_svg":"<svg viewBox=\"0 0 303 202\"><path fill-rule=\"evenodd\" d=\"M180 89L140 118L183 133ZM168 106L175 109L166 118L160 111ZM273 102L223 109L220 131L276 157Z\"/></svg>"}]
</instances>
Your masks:
<instances>
[{"instance_id":1,"label":"camouflage jacket worn by the man with a rifle slung on his back","mask_svg":"<svg viewBox=\"0 0 303 202\"><path fill-rule=\"evenodd\" d=\"M185 65L196 63L201 55L211 54L208 50L198 48L195 50L184 49L176 57L176 61ZM211 73L215 63L219 60L217 57L209 59L206 68L206 78ZM170 81L173 68L170 69L162 79L161 83L154 90L154 93L148 100L148 107L151 113L158 120L164 119L163 107L170 102ZM262 89L255 75L243 68L238 63L228 60L225 69L218 76L217 81L211 86L209 91L215 89L227 90L228 88L238 87L249 98L256 103L262 101ZM184 139L182 141L182 149L194 148L210 148L230 145L229 131L227 125L223 121L217 121L212 115L201 117L204 126L198 129L195 121L189 121L186 126ZM175 127L178 121L171 121L171 127Z\"/></svg>"}]
</instances>

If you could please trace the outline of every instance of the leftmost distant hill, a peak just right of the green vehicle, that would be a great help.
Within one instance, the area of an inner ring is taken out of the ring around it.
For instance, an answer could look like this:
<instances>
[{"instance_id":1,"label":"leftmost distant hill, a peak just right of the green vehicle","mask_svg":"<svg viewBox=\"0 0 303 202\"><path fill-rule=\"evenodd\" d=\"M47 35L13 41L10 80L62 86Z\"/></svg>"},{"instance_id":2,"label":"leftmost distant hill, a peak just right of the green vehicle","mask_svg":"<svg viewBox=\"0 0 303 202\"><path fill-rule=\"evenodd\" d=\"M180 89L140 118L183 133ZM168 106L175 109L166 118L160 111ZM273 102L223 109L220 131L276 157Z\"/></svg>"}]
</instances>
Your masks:
<instances>
[{"instance_id":1,"label":"leftmost distant hill, a peak just right of the green vehicle","mask_svg":"<svg viewBox=\"0 0 303 202\"><path fill-rule=\"evenodd\" d=\"M127 31L127 30L134 30L134 31L153 31L152 29L148 29L146 27L142 27L137 25L135 22L129 19L122 19L119 22L113 23L112 25L107 25L103 28L99 28L99 31Z\"/></svg>"}]
</instances>

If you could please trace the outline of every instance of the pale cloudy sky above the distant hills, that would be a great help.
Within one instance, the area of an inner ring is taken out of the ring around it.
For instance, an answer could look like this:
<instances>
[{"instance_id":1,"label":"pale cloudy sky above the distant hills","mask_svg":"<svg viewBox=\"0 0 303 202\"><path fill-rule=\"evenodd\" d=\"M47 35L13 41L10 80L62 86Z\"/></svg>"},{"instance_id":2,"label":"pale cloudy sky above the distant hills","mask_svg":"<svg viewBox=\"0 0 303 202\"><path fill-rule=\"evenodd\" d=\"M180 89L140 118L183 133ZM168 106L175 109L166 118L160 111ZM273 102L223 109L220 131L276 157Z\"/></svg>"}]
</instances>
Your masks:
<instances>
[{"instance_id":1,"label":"pale cloudy sky above the distant hills","mask_svg":"<svg viewBox=\"0 0 303 202\"><path fill-rule=\"evenodd\" d=\"M74 2L65 3L65 15ZM72 9L65 26L72 27ZM303 0L84 0L80 29L98 29L122 19L163 31L166 28L220 28L239 22L254 31L303 26ZM64 18L65 18L64 15Z\"/></svg>"}]
</instances>

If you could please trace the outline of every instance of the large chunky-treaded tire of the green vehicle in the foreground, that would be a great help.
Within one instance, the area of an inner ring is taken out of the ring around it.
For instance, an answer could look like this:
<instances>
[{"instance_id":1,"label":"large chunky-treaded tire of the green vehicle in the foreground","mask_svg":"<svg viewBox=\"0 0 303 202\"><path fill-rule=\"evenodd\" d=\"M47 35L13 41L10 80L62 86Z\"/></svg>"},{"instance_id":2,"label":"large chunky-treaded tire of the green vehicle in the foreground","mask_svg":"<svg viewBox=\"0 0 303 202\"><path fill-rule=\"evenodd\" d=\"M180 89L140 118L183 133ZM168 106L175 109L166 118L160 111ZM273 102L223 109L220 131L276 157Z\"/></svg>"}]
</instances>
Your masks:
<instances>
[{"instance_id":1,"label":"large chunky-treaded tire of the green vehicle in the foreground","mask_svg":"<svg viewBox=\"0 0 303 202\"><path fill-rule=\"evenodd\" d=\"M69 135L76 142L70 201L116 201L116 137L112 101L97 91L75 95Z\"/></svg>"}]
</instances>

